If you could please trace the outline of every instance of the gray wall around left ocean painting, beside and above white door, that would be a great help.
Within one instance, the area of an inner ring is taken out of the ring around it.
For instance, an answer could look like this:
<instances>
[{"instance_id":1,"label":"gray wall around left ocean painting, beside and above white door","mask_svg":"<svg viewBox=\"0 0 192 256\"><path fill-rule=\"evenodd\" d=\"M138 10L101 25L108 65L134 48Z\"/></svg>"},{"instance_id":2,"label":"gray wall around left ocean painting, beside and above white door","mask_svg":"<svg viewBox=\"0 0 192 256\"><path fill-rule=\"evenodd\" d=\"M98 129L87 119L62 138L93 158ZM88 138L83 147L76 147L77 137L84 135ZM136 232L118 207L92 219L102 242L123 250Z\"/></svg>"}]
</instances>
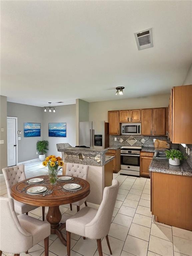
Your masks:
<instances>
[{"instance_id":1,"label":"gray wall around left ocean painting, beside and above white door","mask_svg":"<svg viewBox=\"0 0 192 256\"><path fill-rule=\"evenodd\" d=\"M36 154L36 143L38 140L42 140L42 128L43 128L43 112L41 107L18 104L7 102L7 116L17 117L17 127L21 134L21 140L18 140L18 162L24 162L31 159L38 158ZM24 123L41 123L41 137L29 137L24 138L23 129Z\"/></svg>"}]
</instances>

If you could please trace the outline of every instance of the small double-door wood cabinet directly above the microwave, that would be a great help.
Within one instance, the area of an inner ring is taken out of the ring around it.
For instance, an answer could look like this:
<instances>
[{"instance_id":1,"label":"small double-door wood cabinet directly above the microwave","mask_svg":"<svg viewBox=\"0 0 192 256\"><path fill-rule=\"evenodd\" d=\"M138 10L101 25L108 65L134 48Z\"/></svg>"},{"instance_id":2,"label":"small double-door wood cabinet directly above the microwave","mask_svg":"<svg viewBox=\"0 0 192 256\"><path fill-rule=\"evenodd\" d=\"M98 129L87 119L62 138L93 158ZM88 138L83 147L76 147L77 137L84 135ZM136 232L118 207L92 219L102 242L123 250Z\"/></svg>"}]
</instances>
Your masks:
<instances>
[{"instance_id":1,"label":"small double-door wood cabinet directly above the microwave","mask_svg":"<svg viewBox=\"0 0 192 256\"><path fill-rule=\"evenodd\" d=\"M120 110L120 123L136 123L141 121L141 110Z\"/></svg>"}]
</instances>

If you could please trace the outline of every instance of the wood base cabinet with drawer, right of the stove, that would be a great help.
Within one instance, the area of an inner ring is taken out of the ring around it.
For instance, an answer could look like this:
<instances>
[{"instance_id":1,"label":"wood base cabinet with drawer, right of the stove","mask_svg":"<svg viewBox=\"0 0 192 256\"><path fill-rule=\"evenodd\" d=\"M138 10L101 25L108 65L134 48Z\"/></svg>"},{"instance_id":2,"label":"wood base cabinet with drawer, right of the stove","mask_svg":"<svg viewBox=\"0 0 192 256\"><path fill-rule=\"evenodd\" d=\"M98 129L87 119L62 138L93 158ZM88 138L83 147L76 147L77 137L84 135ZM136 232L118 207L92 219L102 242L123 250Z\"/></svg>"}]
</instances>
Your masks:
<instances>
[{"instance_id":1,"label":"wood base cabinet with drawer, right of the stove","mask_svg":"<svg viewBox=\"0 0 192 256\"><path fill-rule=\"evenodd\" d=\"M149 178L149 165L153 158L153 152L142 152L140 153L140 176Z\"/></svg>"}]
</instances>

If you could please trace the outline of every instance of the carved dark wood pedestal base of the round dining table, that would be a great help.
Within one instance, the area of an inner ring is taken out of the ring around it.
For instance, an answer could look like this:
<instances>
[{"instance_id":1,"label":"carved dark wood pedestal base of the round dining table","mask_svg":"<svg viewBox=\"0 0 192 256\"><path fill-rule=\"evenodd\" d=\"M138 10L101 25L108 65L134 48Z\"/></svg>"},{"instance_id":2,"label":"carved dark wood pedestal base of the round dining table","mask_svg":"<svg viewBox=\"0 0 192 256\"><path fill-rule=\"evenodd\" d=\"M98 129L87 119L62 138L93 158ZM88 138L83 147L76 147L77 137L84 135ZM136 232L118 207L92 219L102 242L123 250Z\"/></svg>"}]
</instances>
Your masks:
<instances>
[{"instance_id":1,"label":"carved dark wood pedestal base of the round dining table","mask_svg":"<svg viewBox=\"0 0 192 256\"><path fill-rule=\"evenodd\" d=\"M66 246L67 242L61 232L65 228L65 223L60 224L62 214L59 206L49 206L49 210L46 216L47 221L51 224L51 234L56 234L61 242Z\"/></svg>"}]
</instances>

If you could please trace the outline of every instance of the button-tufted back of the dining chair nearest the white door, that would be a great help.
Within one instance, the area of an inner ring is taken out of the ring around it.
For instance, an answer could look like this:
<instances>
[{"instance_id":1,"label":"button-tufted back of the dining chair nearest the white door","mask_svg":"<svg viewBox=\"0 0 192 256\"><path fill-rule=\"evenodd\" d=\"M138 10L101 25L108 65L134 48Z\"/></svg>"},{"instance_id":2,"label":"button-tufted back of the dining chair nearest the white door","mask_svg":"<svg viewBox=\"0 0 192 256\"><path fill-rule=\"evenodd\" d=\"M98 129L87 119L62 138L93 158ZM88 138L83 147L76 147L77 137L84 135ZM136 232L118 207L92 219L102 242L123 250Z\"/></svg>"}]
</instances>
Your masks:
<instances>
[{"instance_id":1,"label":"button-tufted back of the dining chair nearest the white door","mask_svg":"<svg viewBox=\"0 0 192 256\"><path fill-rule=\"evenodd\" d=\"M24 164L3 168L2 171L7 186L8 197L11 197L12 186L26 179Z\"/></svg>"}]
</instances>

